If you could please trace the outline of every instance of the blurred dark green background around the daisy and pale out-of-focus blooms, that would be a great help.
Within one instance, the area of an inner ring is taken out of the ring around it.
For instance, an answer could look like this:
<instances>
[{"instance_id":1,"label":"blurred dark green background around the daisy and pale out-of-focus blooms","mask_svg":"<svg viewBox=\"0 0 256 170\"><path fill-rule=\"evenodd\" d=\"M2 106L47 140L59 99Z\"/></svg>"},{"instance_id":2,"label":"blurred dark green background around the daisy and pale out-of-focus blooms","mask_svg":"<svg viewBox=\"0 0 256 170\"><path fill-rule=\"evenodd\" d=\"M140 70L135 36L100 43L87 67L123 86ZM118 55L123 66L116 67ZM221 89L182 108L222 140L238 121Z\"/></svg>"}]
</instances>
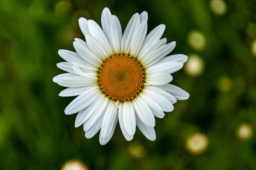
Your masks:
<instances>
[{"instance_id":1,"label":"blurred dark green background around the daisy and pale out-of-focus blooms","mask_svg":"<svg viewBox=\"0 0 256 170\"><path fill-rule=\"evenodd\" d=\"M252 170L256 169L256 137L236 135L245 122L256 126L256 1L227 0L227 12L214 14L208 0L1 0L0 1L0 169L56 170L79 159L91 170ZM156 119L156 141L137 129L124 139L119 125L110 142L101 146L99 133L85 139L74 128L76 114L64 109L74 97L59 97L64 89L52 82L63 73L58 49L74 51L74 38L84 38L78 18L100 23L109 7L124 30L133 13L148 12L148 29L163 23L163 37L175 40L171 54L197 54L204 72L191 77L184 69L173 84L190 94L178 101L164 119ZM205 47L188 43L193 30L205 36ZM221 78L230 89L221 90ZM209 139L206 152L191 154L186 139L202 132ZM132 146L143 148L135 157Z\"/></svg>"}]
</instances>

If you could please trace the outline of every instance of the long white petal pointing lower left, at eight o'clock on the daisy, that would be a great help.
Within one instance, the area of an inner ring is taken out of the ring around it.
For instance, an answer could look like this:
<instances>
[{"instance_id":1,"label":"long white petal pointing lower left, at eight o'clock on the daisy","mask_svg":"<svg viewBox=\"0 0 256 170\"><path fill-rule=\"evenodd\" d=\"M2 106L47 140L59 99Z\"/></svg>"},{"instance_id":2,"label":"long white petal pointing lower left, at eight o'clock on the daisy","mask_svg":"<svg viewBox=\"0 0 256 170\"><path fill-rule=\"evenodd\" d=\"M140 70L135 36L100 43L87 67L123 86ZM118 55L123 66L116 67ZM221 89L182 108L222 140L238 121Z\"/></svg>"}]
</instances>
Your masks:
<instances>
[{"instance_id":1,"label":"long white petal pointing lower left, at eight o'clock on the daisy","mask_svg":"<svg viewBox=\"0 0 256 170\"><path fill-rule=\"evenodd\" d=\"M92 87L87 91L77 96L67 107L65 108L65 114L74 114L83 110L90 105L101 94L99 87Z\"/></svg>"}]
</instances>

